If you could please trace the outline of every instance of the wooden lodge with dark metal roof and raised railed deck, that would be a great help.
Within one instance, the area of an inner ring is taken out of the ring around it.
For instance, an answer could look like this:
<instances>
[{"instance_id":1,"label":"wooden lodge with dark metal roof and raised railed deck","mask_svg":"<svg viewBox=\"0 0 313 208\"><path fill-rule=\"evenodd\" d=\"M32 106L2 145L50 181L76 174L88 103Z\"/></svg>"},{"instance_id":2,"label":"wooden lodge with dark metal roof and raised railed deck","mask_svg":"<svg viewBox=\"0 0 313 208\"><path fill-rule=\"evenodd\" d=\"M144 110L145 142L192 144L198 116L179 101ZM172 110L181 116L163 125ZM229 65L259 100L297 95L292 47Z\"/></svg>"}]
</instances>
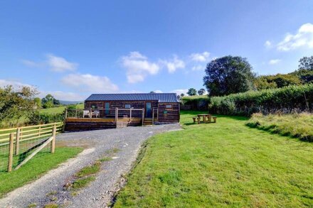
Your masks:
<instances>
[{"instance_id":1,"label":"wooden lodge with dark metal roof and raised railed deck","mask_svg":"<svg viewBox=\"0 0 313 208\"><path fill-rule=\"evenodd\" d=\"M91 94L84 109L67 109L65 131L174 124L179 118L175 93Z\"/></svg>"}]
</instances>

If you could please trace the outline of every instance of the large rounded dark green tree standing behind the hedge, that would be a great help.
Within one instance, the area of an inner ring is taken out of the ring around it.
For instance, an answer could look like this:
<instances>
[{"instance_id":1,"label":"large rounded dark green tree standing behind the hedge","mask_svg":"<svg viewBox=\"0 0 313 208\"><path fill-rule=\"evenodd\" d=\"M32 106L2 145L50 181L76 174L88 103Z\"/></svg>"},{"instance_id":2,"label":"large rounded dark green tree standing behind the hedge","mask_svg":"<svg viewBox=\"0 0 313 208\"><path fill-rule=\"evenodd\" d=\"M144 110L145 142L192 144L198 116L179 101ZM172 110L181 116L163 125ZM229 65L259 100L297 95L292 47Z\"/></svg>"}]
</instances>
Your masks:
<instances>
[{"instance_id":1,"label":"large rounded dark green tree standing behind the hedge","mask_svg":"<svg viewBox=\"0 0 313 208\"><path fill-rule=\"evenodd\" d=\"M206 66L204 86L211 96L221 96L254 89L255 74L246 58L224 56L212 60Z\"/></svg>"}]
</instances>

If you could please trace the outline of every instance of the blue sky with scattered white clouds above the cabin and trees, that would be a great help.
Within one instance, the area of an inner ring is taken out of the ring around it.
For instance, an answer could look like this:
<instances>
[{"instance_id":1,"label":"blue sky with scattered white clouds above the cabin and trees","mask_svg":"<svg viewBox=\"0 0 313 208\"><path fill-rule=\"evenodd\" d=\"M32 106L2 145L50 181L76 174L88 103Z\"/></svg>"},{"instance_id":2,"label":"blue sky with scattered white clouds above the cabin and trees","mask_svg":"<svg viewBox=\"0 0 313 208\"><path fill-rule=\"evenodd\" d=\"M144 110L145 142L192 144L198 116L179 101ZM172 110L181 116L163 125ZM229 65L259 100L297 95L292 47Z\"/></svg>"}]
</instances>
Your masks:
<instances>
[{"instance_id":1,"label":"blue sky with scattered white clouds above the cabin and trees","mask_svg":"<svg viewBox=\"0 0 313 208\"><path fill-rule=\"evenodd\" d=\"M2 1L0 86L40 96L186 92L206 63L248 58L258 75L313 55L313 1Z\"/></svg>"}]
</instances>

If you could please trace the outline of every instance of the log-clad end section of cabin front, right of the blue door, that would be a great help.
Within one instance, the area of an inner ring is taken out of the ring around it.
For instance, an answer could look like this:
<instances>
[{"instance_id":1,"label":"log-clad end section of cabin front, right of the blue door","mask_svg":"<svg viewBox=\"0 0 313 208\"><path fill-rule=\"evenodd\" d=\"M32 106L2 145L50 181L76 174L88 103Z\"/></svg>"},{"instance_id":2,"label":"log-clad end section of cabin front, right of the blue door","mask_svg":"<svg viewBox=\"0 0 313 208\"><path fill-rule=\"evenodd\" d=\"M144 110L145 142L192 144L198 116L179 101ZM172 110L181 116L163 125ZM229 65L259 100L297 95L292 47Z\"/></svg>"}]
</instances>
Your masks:
<instances>
[{"instance_id":1,"label":"log-clad end section of cabin front, right of the blue door","mask_svg":"<svg viewBox=\"0 0 313 208\"><path fill-rule=\"evenodd\" d=\"M167 109L166 105L171 105L171 109ZM166 114L164 114L166 111ZM159 103L159 124L178 123L180 118L179 103Z\"/></svg>"}]
</instances>

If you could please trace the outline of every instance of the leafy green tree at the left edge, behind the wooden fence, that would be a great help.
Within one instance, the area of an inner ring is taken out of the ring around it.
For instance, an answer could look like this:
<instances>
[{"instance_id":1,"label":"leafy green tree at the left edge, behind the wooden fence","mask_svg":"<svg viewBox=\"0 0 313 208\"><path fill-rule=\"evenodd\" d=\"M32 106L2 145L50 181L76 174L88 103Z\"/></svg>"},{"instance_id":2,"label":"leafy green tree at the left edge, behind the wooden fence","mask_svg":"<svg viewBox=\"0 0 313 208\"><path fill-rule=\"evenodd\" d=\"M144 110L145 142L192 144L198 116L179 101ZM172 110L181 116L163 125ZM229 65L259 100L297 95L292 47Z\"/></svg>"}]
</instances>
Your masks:
<instances>
[{"instance_id":1,"label":"leafy green tree at the left edge, behind the wooden fence","mask_svg":"<svg viewBox=\"0 0 313 208\"><path fill-rule=\"evenodd\" d=\"M21 87L21 89L14 90L9 85L0 88L0 124L6 122L11 126L21 117L34 111L33 96L36 94L36 89L31 87Z\"/></svg>"}]
</instances>

